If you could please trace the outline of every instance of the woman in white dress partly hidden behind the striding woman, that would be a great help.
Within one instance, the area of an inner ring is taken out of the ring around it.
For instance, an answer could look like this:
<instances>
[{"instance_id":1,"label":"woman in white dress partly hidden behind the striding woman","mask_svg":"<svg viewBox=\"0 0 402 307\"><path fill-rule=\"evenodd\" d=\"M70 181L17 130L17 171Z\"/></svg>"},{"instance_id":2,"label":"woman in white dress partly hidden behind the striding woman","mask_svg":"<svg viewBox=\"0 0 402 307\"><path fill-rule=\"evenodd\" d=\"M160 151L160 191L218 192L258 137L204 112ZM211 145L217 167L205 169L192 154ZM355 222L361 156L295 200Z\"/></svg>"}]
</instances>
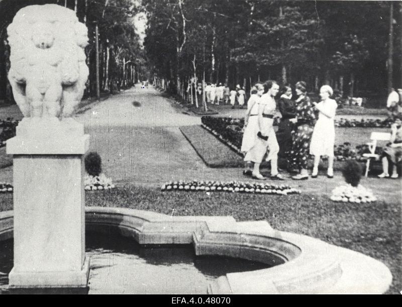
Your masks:
<instances>
[{"instance_id":1,"label":"woman in white dress partly hidden behind the striding woman","mask_svg":"<svg viewBox=\"0 0 402 307\"><path fill-rule=\"evenodd\" d=\"M264 86L257 83L251 88L251 96L247 102L247 113L244 118L244 133L242 140L241 151L246 155L247 152L254 146L257 138L258 128L258 106L259 100L264 93ZM249 157L248 157L249 158ZM251 176L253 171L253 163L244 158L244 171L243 175Z\"/></svg>"}]
</instances>

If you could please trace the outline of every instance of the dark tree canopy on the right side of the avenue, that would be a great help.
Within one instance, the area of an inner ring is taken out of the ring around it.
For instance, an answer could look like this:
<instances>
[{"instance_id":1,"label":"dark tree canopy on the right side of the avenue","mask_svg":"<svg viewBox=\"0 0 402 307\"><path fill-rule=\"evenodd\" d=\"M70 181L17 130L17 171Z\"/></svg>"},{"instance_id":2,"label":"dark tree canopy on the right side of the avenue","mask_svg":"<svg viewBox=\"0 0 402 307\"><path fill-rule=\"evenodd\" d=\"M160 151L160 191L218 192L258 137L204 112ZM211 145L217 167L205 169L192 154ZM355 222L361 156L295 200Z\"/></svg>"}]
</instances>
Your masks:
<instances>
[{"instance_id":1,"label":"dark tree canopy on the right side of the avenue","mask_svg":"<svg viewBox=\"0 0 402 307\"><path fill-rule=\"evenodd\" d=\"M207 82L246 85L268 78L309 90L330 84L348 94L386 94L390 2L142 0L144 47L158 78L180 92L194 73ZM395 3L393 19L400 29ZM394 84L401 84L395 31Z\"/></svg>"}]
</instances>

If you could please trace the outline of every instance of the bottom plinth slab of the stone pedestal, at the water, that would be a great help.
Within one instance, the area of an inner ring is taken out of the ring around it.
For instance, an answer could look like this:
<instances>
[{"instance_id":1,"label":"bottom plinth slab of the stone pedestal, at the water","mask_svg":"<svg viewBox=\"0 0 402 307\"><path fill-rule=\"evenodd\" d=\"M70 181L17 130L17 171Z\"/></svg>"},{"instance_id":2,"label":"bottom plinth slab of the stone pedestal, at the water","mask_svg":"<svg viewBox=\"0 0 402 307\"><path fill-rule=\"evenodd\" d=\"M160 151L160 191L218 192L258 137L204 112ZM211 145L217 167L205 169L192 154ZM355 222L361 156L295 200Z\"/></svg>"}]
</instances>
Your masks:
<instances>
[{"instance_id":1,"label":"bottom plinth slab of the stone pedestal, at the water","mask_svg":"<svg viewBox=\"0 0 402 307\"><path fill-rule=\"evenodd\" d=\"M13 268L9 274L9 288L85 288L88 278L87 257L80 271L16 272Z\"/></svg>"}]
</instances>

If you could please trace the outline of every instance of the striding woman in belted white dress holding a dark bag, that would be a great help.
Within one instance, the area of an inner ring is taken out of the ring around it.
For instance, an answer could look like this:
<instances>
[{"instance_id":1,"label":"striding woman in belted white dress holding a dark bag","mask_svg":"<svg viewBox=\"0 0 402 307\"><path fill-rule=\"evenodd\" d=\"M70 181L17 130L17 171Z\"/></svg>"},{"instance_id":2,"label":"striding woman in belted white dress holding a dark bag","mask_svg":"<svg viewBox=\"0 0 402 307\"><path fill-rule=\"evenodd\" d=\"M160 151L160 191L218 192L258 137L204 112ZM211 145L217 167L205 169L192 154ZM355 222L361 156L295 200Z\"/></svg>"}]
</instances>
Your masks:
<instances>
[{"instance_id":1,"label":"striding woman in belted white dress holding a dark bag","mask_svg":"<svg viewBox=\"0 0 402 307\"><path fill-rule=\"evenodd\" d=\"M266 161L271 161L271 179L283 180L283 177L278 174L279 145L273 129L273 115L276 110L274 97L278 94L279 86L275 81L268 80L264 84L264 91L266 93L261 96L258 105L258 137L253 147L247 151L244 160L254 162L252 178L265 180L266 178L260 173L260 165L268 149Z\"/></svg>"}]
</instances>

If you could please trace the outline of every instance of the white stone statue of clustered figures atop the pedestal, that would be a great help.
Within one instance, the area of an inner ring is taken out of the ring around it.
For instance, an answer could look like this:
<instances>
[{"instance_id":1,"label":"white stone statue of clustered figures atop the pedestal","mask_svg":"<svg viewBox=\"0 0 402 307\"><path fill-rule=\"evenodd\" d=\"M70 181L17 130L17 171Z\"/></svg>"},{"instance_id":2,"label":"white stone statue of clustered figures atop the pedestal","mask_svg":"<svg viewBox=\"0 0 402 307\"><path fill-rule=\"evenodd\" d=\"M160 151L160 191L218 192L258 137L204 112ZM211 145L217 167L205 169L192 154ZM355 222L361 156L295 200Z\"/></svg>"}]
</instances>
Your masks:
<instances>
[{"instance_id":1,"label":"white stone statue of clustered figures atop the pedestal","mask_svg":"<svg viewBox=\"0 0 402 307\"><path fill-rule=\"evenodd\" d=\"M58 5L21 9L7 28L9 81L25 117L69 117L81 101L88 67L87 28Z\"/></svg>"}]
</instances>

